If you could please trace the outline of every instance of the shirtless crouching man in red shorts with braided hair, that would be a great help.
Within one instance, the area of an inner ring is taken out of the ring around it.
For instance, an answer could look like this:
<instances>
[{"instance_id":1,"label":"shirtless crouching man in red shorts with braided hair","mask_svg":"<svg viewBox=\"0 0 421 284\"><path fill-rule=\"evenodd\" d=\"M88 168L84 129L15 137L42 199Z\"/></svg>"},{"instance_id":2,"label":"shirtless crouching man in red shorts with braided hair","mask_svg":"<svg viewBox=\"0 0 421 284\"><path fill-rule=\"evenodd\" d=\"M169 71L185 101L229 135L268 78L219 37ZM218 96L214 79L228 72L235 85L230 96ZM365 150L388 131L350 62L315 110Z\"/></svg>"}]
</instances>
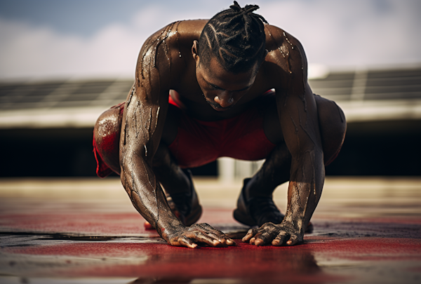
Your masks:
<instances>
[{"instance_id":1,"label":"shirtless crouching man in red shorts with braided hair","mask_svg":"<svg viewBox=\"0 0 421 284\"><path fill-rule=\"evenodd\" d=\"M209 21L174 22L152 34L126 102L95 125L98 175L119 173L135 208L170 245L235 244L208 224L194 224L201 206L185 169L220 156L266 158L244 180L234 210L239 222L259 226L243 241L301 243L324 167L340 151L342 110L312 93L300 42L267 25L256 9L234 1ZM272 192L288 180L284 216Z\"/></svg>"}]
</instances>

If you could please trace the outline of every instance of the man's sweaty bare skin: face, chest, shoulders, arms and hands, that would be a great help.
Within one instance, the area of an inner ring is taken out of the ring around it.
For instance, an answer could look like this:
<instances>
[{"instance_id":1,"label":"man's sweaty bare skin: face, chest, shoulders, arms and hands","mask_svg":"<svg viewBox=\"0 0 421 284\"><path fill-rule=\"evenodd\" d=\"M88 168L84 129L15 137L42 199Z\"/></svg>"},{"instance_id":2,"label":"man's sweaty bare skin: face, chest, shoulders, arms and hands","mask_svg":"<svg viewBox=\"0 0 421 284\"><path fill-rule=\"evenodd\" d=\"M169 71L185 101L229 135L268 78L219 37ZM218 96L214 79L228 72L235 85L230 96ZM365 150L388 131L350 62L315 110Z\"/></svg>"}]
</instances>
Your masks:
<instances>
[{"instance_id":1,"label":"man's sweaty bare skin: face, chest, shoulders, arms and hands","mask_svg":"<svg viewBox=\"0 0 421 284\"><path fill-rule=\"evenodd\" d=\"M185 111L202 121L229 119L274 88L277 116L267 130L272 141L290 152L288 206L281 224L250 229L243 241L255 245L294 245L316 208L324 181L323 149L316 101L307 83L307 59L300 42L282 29L265 25L267 56L243 73L225 71L217 60L203 66L197 53L207 20L175 22L149 37L140 50L135 84L128 94L121 123L121 181L135 208L171 245L196 248L234 245L208 224L184 226L166 202L156 173L154 154L165 131L168 92Z\"/></svg>"}]
</instances>

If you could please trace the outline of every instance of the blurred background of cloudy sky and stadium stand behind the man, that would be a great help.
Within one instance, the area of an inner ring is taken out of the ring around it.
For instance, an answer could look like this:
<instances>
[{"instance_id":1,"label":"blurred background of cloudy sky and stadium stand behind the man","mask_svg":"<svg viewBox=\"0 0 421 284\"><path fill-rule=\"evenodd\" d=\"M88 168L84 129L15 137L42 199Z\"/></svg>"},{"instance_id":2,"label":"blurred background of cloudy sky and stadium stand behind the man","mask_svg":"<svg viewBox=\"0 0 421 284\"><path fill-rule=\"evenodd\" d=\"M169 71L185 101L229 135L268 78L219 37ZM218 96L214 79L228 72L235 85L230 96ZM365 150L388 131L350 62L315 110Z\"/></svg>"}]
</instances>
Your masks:
<instances>
[{"instance_id":1,"label":"blurred background of cloudy sky and stadium stand behind the man","mask_svg":"<svg viewBox=\"0 0 421 284\"><path fill-rule=\"evenodd\" d=\"M126 99L143 41L232 1L0 0L0 177L94 177L93 125ZM327 175L421 175L421 1L260 0L297 37L314 93L348 130ZM222 158L195 175L232 180L260 162Z\"/></svg>"}]
</instances>

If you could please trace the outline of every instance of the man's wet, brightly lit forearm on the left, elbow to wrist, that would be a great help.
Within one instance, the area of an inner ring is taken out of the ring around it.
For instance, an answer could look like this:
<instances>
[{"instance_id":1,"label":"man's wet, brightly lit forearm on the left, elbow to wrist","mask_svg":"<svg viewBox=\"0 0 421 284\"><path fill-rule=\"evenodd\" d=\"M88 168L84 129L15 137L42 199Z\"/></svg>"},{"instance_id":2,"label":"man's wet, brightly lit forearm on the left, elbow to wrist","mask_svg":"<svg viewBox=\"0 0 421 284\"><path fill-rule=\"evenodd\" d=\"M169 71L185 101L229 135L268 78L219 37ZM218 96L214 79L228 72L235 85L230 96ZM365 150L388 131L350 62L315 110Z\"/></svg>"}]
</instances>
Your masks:
<instances>
[{"instance_id":1,"label":"man's wet, brightly lit forearm on the left, elbow to wrist","mask_svg":"<svg viewBox=\"0 0 421 284\"><path fill-rule=\"evenodd\" d=\"M127 163L127 160L132 161ZM132 159L126 159L121 168L121 182L134 207L168 241L168 236L183 225L171 212L152 167L135 155Z\"/></svg>"}]
</instances>

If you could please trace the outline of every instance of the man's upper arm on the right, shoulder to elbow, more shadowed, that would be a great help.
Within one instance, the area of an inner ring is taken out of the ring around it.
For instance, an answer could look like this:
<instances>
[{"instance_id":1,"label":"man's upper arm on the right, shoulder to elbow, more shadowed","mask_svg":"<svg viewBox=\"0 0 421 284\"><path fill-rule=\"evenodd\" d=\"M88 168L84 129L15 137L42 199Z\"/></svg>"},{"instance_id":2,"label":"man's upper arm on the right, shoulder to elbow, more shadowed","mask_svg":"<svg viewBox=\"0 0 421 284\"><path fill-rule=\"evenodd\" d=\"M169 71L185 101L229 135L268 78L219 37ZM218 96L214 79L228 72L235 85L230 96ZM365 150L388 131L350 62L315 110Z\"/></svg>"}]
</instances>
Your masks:
<instances>
[{"instance_id":1,"label":"man's upper arm on the right, shoulder to elbow, more shadowed","mask_svg":"<svg viewBox=\"0 0 421 284\"><path fill-rule=\"evenodd\" d=\"M286 145L299 158L307 151L322 151L317 107L307 83L307 58L300 41L281 29L277 33L279 48L275 51L285 63L279 65L284 76L279 78L283 82L276 89L276 103Z\"/></svg>"}]
</instances>

